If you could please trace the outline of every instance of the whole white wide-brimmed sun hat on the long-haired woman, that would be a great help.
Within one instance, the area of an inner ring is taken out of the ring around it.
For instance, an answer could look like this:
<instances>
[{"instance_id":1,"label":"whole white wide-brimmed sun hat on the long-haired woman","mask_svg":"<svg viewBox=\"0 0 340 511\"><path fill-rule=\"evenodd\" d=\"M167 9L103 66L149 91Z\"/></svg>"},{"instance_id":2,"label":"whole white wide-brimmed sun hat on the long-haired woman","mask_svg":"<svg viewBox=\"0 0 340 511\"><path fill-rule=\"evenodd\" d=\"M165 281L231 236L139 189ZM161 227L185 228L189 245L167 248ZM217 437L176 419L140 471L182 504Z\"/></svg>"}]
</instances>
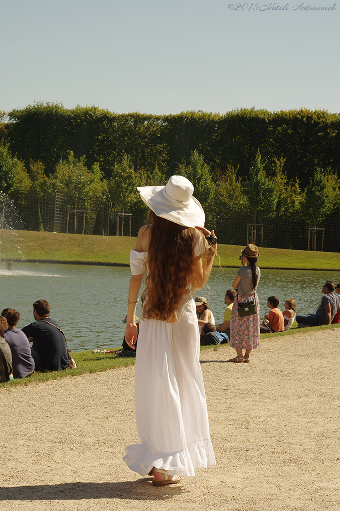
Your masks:
<instances>
[{"instance_id":1,"label":"whole white wide-brimmed sun hat on the long-haired woman","mask_svg":"<svg viewBox=\"0 0 340 511\"><path fill-rule=\"evenodd\" d=\"M194 187L184 176L171 176L165 187L137 187L142 200L158 216L186 227L203 227L206 215L192 196Z\"/></svg>"}]
</instances>

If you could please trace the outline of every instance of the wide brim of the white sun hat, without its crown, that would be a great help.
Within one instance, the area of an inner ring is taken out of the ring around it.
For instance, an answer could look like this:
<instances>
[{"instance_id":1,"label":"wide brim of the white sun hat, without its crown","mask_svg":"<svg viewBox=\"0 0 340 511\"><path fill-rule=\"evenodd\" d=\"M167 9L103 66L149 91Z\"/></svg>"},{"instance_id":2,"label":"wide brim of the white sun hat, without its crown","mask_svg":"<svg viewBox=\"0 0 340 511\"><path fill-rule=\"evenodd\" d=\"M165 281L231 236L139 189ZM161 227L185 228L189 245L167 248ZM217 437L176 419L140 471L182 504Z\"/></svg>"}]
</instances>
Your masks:
<instances>
[{"instance_id":1,"label":"wide brim of the white sun hat, without its crown","mask_svg":"<svg viewBox=\"0 0 340 511\"><path fill-rule=\"evenodd\" d=\"M137 187L143 202L158 216L186 227L203 227L206 215L200 202L191 195L188 202L178 202L165 186Z\"/></svg>"}]
</instances>

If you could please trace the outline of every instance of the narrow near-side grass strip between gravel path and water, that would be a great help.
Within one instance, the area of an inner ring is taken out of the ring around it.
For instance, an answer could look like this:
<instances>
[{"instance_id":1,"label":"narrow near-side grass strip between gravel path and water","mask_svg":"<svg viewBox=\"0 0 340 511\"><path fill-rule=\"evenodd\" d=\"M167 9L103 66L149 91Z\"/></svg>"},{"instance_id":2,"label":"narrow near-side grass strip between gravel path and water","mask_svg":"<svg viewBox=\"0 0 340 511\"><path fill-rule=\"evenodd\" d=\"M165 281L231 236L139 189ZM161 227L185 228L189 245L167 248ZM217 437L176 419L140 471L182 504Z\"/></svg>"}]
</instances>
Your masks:
<instances>
[{"instance_id":1,"label":"narrow near-side grass strip between gravel path and water","mask_svg":"<svg viewBox=\"0 0 340 511\"><path fill-rule=\"evenodd\" d=\"M286 332L278 332L277 334L261 334L260 335L260 343L269 341L275 337L282 336L291 336L295 334L305 334L310 331L311 327L307 328L297 328L297 323L294 322L293 327ZM322 327L312 327L313 332L322 330L333 330L336 328L340 328L339 324L330 324ZM287 339L287 342L289 340ZM225 346L222 345L212 345L212 346L201 346L201 351L204 350L218 350L220 347ZM117 367L127 366L134 364L135 359L131 358L120 358L116 357L115 353L93 353L92 351L84 351L73 353L73 358L77 362L77 369L66 369L64 371L53 371L51 373L33 373L32 376L27 378L18 378L16 380L0 383L0 388L10 389L16 385L28 385L38 384L40 382L48 381L48 380L60 380L61 378L74 377L83 375L86 373L100 373L101 371L107 371L108 369L116 369Z\"/></svg>"}]
</instances>

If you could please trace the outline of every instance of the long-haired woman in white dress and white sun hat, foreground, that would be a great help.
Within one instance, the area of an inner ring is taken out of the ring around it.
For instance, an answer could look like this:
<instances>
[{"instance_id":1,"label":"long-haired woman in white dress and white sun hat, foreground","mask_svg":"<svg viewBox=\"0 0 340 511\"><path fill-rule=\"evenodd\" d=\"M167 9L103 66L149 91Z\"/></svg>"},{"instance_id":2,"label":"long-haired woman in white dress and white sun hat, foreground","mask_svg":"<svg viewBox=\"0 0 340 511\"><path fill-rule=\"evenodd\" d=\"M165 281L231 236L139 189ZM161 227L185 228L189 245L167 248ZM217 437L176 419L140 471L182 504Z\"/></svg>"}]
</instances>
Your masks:
<instances>
[{"instance_id":1,"label":"long-haired woman in white dress and white sun hat, foreground","mask_svg":"<svg viewBox=\"0 0 340 511\"><path fill-rule=\"evenodd\" d=\"M215 464L191 290L201 289L209 277L216 243L205 239L214 231L201 227L205 214L188 179L171 176L165 187L138 190L151 211L131 250L125 339L131 347L137 340L134 317L145 274L135 364L142 443L128 446L124 460L135 472L153 475L153 485L163 486L179 482L179 475L195 475L196 467Z\"/></svg>"}]
</instances>

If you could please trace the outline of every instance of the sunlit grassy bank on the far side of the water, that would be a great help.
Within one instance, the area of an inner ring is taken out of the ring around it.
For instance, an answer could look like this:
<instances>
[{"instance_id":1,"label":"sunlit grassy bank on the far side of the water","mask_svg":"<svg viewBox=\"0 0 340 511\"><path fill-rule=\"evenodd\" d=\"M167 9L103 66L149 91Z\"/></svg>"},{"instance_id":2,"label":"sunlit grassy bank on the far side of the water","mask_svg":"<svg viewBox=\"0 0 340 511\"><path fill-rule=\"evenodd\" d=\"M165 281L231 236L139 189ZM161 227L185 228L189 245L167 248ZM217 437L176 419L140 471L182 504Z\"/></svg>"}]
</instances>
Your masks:
<instances>
[{"instance_id":1,"label":"sunlit grassy bank on the far side of the water","mask_svg":"<svg viewBox=\"0 0 340 511\"><path fill-rule=\"evenodd\" d=\"M27 230L0 231L3 261L61 262L77 264L128 265L136 238L38 233ZM219 245L222 267L238 268L243 246ZM283 248L260 248L260 268L340 270L338 252L312 252ZM218 264L215 258L215 264Z\"/></svg>"}]
</instances>

